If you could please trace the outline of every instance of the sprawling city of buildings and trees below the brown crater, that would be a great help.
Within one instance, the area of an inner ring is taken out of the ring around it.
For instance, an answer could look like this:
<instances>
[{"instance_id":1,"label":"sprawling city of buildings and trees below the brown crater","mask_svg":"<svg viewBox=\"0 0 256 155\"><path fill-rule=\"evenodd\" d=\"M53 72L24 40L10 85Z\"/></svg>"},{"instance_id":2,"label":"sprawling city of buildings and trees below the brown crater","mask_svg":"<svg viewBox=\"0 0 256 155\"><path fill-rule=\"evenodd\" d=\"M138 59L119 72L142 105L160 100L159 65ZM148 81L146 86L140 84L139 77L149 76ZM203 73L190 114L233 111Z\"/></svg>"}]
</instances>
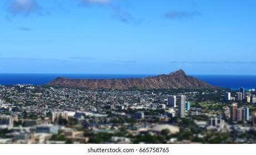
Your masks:
<instances>
[{"instance_id":1,"label":"sprawling city of buildings and trees below the brown crater","mask_svg":"<svg viewBox=\"0 0 256 155\"><path fill-rule=\"evenodd\" d=\"M0 143L255 143L255 89L0 85Z\"/></svg>"}]
</instances>

